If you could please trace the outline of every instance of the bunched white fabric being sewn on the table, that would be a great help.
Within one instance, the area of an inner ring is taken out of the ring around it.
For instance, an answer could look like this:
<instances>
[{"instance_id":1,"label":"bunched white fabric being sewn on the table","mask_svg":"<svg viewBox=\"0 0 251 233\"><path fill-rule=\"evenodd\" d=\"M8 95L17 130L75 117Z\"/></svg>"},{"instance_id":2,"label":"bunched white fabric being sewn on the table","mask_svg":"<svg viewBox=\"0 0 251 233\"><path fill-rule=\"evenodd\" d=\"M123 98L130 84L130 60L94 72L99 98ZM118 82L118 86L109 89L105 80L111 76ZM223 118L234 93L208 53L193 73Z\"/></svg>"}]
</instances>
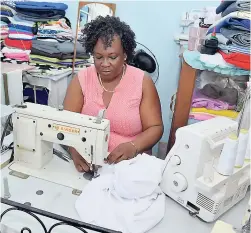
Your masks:
<instances>
[{"instance_id":1,"label":"bunched white fabric being sewn on the table","mask_svg":"<svg viewBox=\"0 0 251 233\"><path fill-rule=\"evenodd\" d=\"M150 230L165 213L163 168L163 160L146 154L103 168L75 203L81 220L123 233Z\"/></svg>"}]
</instances>

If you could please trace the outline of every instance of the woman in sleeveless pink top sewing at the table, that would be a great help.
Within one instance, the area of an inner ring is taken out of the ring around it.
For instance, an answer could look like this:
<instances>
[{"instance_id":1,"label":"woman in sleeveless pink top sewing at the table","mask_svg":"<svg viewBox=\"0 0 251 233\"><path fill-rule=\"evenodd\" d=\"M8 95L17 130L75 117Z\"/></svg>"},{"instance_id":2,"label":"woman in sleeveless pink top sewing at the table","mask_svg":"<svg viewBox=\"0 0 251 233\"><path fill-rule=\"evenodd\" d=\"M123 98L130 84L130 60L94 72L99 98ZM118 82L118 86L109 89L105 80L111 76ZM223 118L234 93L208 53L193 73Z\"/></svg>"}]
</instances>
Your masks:
<instances>
[{"instance_id":1,"label":"woman in sleeveless pink top sewing at the table","mask_svg":"<svg viewBox=\"0 0 251 233\"><path fill-rule=\"evenodd\" d=\"M130 159L151 149L163 134L161 107L152 80L128 65L136 48L135 34L117 17L97 17L83 29L86 51L94 66L81 70L71 81L64 108L97 116L106 109L110 120L109 163ZM70 149L79 172L86 161Z\"/></svg>"}]
</instances>

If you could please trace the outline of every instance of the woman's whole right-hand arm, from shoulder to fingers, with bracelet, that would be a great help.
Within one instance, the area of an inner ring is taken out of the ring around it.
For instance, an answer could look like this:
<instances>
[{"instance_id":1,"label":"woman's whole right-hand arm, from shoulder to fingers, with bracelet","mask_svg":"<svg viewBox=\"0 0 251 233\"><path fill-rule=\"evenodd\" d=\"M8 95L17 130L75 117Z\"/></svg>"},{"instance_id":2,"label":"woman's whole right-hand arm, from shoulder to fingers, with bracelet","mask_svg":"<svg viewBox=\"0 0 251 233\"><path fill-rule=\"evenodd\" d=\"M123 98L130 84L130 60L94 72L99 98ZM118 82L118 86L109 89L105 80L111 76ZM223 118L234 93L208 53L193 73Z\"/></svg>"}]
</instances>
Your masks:
<instances>
[{"instance_id":1,"label":"woman's whole right-hand arm, from shoulder to fingers, with bracelet","mask_svg":"<svg viewBox=\"0 0 251 233\"><path fill-rule=\"evenodd\" d=\"M148 76L143 80L143 96L140 104L140 117L143 132L134 141L120 144L108 156L109 163L118 163L133 158L137 153L151 149L162 137L163 122L161 106L156 87Z\"/></svg>"}]
</instances>

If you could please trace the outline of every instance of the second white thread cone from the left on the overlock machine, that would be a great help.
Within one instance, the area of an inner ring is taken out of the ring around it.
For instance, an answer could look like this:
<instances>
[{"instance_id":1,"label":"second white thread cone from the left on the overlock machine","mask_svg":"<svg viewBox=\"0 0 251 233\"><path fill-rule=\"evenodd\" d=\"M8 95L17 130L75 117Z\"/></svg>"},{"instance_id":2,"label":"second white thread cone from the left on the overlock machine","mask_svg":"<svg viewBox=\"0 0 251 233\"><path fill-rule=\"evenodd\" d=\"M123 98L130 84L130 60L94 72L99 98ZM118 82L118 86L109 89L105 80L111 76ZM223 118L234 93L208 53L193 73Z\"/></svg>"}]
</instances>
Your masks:
<instances>
[{"instance_id":1,"label":"second white thread cone from the left on the overlock machine","mask_svg":"<svg viewBox=\"0 0 251 233\"><path fill-rule=\"evenodd\" d=\"M235 160L236 168L241 168L244 164L247 144L248 144L248 130L241 129L238 138L237 156Z\"/></svg>"}]
</instances>

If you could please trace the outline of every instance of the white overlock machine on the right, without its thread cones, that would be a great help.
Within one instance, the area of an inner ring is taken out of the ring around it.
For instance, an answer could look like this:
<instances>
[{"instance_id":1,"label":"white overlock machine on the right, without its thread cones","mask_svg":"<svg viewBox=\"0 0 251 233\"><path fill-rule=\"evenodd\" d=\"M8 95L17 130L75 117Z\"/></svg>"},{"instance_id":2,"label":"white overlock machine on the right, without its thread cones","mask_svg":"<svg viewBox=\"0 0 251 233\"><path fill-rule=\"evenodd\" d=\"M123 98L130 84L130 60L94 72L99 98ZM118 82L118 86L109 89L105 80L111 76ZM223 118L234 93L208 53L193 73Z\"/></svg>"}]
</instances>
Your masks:
<instances>
[{"instance_id":1,"label":"white overlock machine on the right, without its thread cones","mask_svg":"<svg viewBox=\"0 0 251 233\"><path fill-rule=\"evenodd\" d=\"M215 169L224 139L237 128L237 122L225 117L179 128L166 157L163 192L206 222L216 220L243 199L250 185L249 162L231 176Z\"/></svg>"}]
</instances>

